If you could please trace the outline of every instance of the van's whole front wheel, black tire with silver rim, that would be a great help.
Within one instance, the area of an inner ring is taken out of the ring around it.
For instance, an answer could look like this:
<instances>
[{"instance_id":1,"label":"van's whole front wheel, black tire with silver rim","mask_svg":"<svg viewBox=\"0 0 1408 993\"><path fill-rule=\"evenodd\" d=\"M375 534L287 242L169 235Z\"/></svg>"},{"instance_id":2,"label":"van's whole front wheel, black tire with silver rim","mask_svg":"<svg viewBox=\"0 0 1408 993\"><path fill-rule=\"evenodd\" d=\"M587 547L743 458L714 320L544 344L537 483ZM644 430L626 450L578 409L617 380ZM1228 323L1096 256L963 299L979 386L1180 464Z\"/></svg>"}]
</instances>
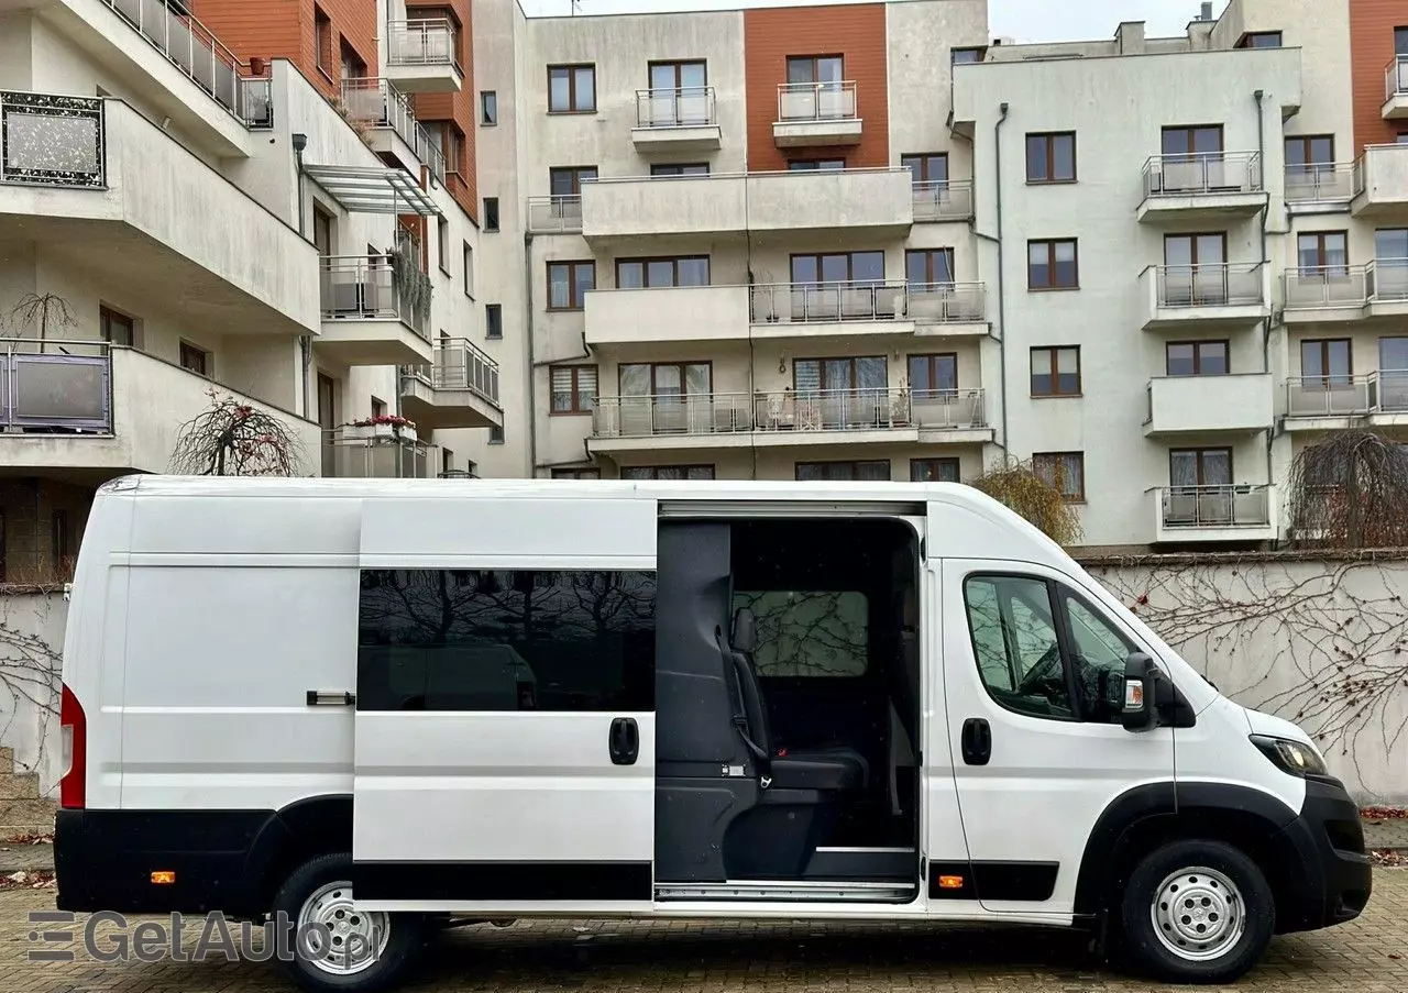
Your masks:
<instances>
[{"instance_id":1,"label":"van's whole front wheel, black tire with silver rim","mask_svg":"<svg viewBox=\"0 0 1408 993\"><path fill-rule=\"evenodd\" d=\"M1233 894L1217 879L1198 876L1198 869L1219 873L1239 899L1228 899ZM1173 879L1176 875L1186 878ZM1180 886L1191 897L1187 914L1178 913L1184 910L1177 906L1181 897L1174 897L1171 910L1167 900L1159 900L1160 892L1167 897ZM1164 916L1162 925L1155 921L1156 913ZM1256 862L1240 849L1222 841L1171 841L1146 855L1129 875L1119 920L1122 958L1139 972L1170 983L1231 983L1262 959L1276 923L1276 897ZM1240 934L1228 927L1238 920ZM1221 930L1214 931L1219 924ZM1200 945L1200 927L1218 939ZM1181 945L1180 952L1170 945ZM1209 958L1195 961L1193 955Z\"/></svg>"}]
</instances>

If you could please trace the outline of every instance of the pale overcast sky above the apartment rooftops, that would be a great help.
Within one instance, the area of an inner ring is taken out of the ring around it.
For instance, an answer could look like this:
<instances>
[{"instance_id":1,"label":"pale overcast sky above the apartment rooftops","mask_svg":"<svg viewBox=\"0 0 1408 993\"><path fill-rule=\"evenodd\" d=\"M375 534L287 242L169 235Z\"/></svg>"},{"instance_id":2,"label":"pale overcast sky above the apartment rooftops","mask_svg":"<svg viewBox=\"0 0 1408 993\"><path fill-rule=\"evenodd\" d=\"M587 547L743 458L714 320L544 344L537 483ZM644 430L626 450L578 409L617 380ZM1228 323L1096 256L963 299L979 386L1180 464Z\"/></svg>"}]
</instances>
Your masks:
<instances>
[{"instance_id":1,"label":"pale overcast sky above the apartment rooftops","mask_svg":"<svg viewBox=\"0 0 1408 993\"><path fill-rule=\"evenodd\" d=\"M666 10L738 7L814 7L829 0L576 0L579 14L643 14ZM855 0L850 0L852 3ZM572 0L520 0L529 17L562 15ZM1149 37L1181 35L1201 0L988 0L994 38L1084 41L1112 38L1121 21L1146 21ZM1212 6L1214 17L1226 0Z\"/></svg>"}]
</instances>

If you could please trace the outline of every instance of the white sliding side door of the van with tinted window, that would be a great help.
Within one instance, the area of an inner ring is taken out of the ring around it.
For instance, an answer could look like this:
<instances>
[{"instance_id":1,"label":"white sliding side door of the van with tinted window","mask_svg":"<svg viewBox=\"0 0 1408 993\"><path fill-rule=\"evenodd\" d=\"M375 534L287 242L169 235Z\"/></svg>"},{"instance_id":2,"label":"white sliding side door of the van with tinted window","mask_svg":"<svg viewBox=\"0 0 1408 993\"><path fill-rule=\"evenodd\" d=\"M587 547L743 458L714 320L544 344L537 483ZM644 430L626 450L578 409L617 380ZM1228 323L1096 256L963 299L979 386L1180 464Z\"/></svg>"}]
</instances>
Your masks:
<instances>
[{"instance_id":1,"label":"white sliding side door of the van with tinted window","mask_svg":"<svg viewBox=\"0 0 1408 993\"><path fill-rule=\"evenodd\" d=\"M369 910L648 908L653 500L367 500L353 887Z\"/></svg>"}]
</instances>

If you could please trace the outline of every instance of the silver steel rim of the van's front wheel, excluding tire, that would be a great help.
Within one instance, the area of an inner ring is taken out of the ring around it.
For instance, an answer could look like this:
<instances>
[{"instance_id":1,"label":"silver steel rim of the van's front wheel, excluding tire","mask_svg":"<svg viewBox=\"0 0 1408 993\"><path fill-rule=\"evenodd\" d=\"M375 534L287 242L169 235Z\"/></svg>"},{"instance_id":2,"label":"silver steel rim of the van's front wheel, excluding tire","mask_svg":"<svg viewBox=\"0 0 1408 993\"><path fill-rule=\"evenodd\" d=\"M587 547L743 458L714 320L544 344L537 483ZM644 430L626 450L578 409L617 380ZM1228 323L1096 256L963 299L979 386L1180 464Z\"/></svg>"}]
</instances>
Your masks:
<instances>
[{"instance_id":1,"label":"silver steel rim of the van's front wheel, excluding tire","mask_svg":"<svg viewBox=\"0 0 1408 993\"><path fill-rule=\"evenodd\" d=\"M1242 893L1221 872L1180 869L1155 890L1153 931L1163 947L1188 962L1207 962L1232 951L1246 931Z\"/></svg>"}]
</instances>

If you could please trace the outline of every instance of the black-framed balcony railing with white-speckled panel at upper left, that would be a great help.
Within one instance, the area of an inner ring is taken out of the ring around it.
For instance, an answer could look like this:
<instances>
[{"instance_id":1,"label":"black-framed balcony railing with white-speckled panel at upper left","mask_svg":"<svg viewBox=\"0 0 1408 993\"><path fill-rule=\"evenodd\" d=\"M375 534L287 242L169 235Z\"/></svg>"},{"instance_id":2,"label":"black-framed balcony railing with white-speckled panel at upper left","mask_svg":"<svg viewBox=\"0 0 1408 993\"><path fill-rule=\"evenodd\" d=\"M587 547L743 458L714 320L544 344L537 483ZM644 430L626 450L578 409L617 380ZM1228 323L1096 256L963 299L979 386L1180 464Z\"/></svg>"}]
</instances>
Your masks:
<instances>
[{"instance_id":1,"label":"black-framed balcony railing with white-speckled panel at upper left","mask_svg":"<svg viewBox=\"0 0 1408 993\"><path fill-rule=\"evenodd\" d=\"M103 189L103 101L48 93L0 93L0 183Z\"/></svg>"}]
</instances>

